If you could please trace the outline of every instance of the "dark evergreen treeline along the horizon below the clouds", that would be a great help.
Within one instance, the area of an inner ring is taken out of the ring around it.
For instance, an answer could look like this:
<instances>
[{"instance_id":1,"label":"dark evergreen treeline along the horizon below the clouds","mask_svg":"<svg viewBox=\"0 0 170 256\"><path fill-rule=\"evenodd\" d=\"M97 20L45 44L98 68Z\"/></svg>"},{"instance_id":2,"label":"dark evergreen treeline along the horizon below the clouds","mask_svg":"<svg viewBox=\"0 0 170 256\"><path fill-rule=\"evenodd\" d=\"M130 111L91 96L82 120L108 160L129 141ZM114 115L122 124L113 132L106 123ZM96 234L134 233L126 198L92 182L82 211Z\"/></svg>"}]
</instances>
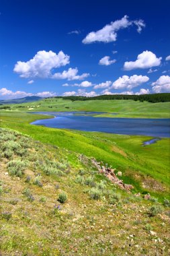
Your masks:
<instances>
[{"instance_id":1,"label":"dark evergreen treeline along the horizon below the clouds","mask_svg":"<svg viewBox=\"0 0 170 256\"><path fill-rule=\"evenodd\" d=\"M115 95L99 95L95 97L85 97L85 96L56 96L54 98L63 98L65 100L139 100L140 102L169 102L170 101L170 93L166 94L143 94L143 95L123 95L123 94L115 94Z\"/></svg>"}]
</instances>

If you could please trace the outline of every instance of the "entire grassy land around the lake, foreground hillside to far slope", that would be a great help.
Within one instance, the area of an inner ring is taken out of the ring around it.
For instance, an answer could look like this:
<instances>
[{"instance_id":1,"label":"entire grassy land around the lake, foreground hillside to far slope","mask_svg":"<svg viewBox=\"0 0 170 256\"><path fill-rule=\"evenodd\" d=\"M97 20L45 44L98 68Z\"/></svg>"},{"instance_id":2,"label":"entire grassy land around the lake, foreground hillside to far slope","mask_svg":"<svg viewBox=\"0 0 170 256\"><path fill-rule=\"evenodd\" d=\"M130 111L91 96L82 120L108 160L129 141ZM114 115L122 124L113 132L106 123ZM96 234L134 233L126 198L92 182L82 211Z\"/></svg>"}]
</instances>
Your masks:
<instances>
[{"instance_id":1,"label":"entire grassy land around the lake, foreground hillside to far slope","mask_svg":"<svg viewBox=\"0 0 170 256\"><path fill-rule=\"evenodd\" d=\"M1 110L0 254L169 255L169 139L142 146L150 137L30 125L44 116L27 113L169 117L167 102L102 103L48 99ZM134 189L111 183L93 158L116 168L117 177L122 172L120 179Z\"/></svg>"}]
</instances>

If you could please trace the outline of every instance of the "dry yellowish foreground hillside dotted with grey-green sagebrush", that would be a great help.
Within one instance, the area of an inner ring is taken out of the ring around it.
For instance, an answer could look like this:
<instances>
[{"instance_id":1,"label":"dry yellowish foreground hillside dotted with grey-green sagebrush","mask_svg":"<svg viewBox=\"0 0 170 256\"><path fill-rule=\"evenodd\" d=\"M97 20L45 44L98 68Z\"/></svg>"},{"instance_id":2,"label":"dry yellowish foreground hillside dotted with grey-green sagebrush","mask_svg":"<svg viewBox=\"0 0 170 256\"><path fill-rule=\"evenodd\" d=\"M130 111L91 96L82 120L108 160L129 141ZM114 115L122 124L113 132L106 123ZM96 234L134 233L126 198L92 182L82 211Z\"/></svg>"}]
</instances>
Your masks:
<instances>
[{"instance_id":1,"label":"dry yellowish foreground hillside dotted with grey-green sagebrush","mask_svg":"<svg viewBox=\"0 0 170 256\"><path fill-rule=\"evenodd\" d=\"M63 147L66 134L85 139L63 131ZM91 158L46 142L0 129L1 255L169 255L169 201L127 193Z\"/></svg>"}]
</instances>

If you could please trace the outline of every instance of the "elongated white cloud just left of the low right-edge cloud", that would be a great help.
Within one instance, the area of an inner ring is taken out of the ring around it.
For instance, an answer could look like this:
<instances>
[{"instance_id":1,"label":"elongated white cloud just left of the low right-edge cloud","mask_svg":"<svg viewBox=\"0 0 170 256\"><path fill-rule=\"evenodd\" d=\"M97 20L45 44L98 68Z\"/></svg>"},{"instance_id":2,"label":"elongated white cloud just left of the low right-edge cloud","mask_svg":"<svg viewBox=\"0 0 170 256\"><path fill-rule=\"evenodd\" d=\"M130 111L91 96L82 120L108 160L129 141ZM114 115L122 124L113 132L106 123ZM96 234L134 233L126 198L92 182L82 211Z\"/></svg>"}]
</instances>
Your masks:
<instances>
[{"instance_id":1,"label":"elongated white cloud just left of the low right-edge cloud","mask_svg":"<svg viewBox=\"0 0 170 256\"><path fill-rule=\"evenodd\" d=\"M123 89L127 88L131 90L132 88L136 86L140 86L140 84L143 84L147 82L149 78L146 75L132 75L128 77L128 75L123 75L122 77L119 77L113 84L112 88L114 89Z\"/></svg>"}]
</instances>

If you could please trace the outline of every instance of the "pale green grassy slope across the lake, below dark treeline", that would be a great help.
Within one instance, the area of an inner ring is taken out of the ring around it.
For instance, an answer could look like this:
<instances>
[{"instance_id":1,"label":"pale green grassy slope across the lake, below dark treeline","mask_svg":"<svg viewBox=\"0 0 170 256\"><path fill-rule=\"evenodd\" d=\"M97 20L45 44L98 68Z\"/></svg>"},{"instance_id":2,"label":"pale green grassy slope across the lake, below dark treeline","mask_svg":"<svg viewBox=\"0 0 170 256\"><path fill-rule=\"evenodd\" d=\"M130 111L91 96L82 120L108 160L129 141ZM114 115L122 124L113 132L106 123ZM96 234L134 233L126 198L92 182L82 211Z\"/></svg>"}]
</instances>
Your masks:
<instances>
[{"instance_id":1,"label":"pale green grassy slope across the lake, below dark treeline","mask_svg":"<svg viewBox=\"0 0 170 256\"><path fill-rule=\"evenodd\" d=\"M170 118L170 102L150 103L134 100L88 100L75 101L62 99L46 99L26 104L10 104L12 110L27 111L101 111L108 114L103 117L136 117L136 118ZM17 106L25 106L17 108ZM66 108L67 107L67 108ZM117 115L111 115L116 113ZM100 115L101 117L101 115Z\"/></svg>"}]
</instances>

